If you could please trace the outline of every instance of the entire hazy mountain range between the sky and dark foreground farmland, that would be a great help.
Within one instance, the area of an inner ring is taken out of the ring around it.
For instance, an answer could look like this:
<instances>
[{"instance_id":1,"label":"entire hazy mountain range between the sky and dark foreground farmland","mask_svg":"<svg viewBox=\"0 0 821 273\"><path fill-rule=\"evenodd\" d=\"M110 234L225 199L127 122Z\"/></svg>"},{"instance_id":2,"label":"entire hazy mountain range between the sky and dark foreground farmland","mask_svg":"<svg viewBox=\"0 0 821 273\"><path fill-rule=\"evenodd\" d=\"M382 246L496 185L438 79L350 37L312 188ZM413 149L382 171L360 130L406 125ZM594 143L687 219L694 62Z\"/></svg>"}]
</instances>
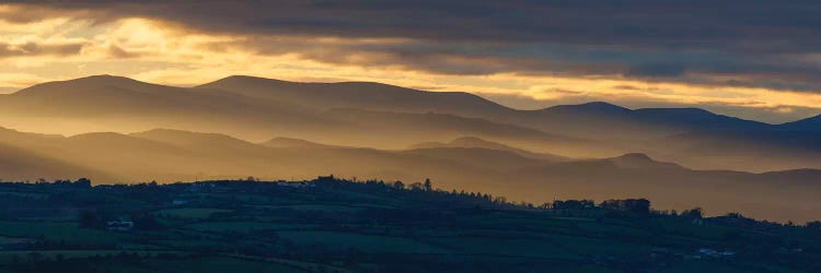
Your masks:
<instances>
[{"instance_id":1,"label":"entire hazy mountain range between the sky and dark foreground farmland","mask_svg":"<svg viewBox=\"0 0 821 273\"><path fill-rule=\"evenodd\" d=\"M518 110L365 82L230 76L174 87L99 75L0 96L0 126L20 130L0 129L0 178L431 178L532 202L641 197L810 219L821 209L807 205L821 190L819 120L606 103Z\"/></svg>"}]
</instances>

